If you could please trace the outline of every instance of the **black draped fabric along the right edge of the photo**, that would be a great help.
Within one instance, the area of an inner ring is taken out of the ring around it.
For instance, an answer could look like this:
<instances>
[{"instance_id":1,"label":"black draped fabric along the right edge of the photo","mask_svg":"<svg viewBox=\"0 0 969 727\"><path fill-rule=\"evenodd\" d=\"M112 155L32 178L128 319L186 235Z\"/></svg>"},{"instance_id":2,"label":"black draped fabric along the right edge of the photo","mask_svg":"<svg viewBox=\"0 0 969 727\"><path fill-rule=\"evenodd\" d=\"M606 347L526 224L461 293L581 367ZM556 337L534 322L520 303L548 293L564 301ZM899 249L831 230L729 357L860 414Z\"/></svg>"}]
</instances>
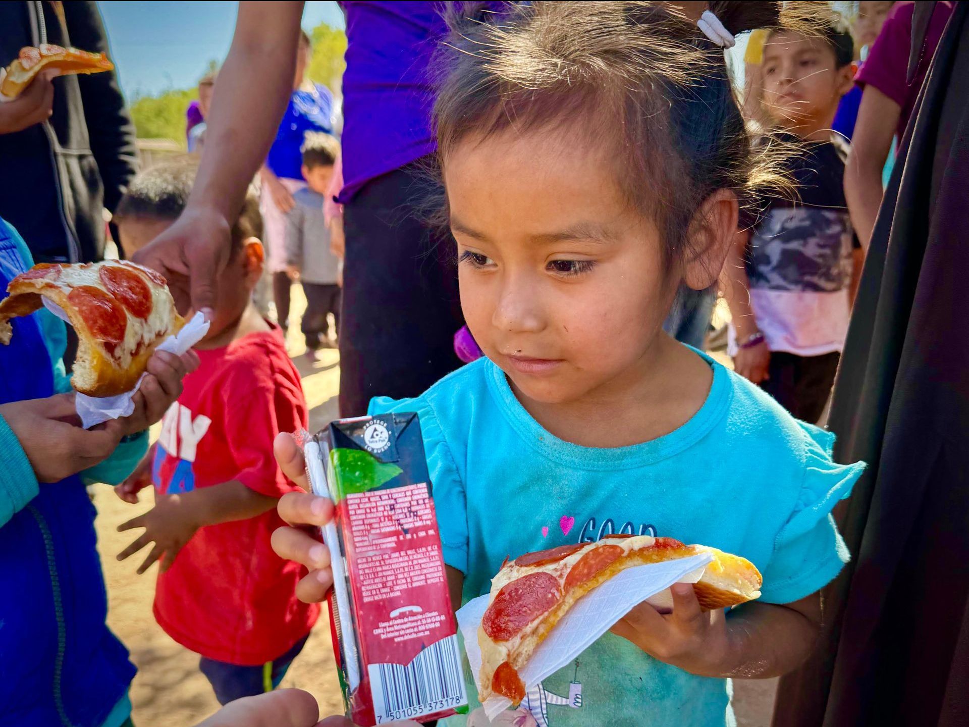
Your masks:
<instances>
[{"instance_id":1,"label":"black draped fabric along the right edge of the photo","mask_svg":"<svg viewBox=\"0 0 969 727\"><path fill-rule=\"evenodd\" d=\"M835 458L869 465L835 512L853 562L774 727L969 725L967 16L956 3L868 250L828 420Z\"/></svg>"}]
</instances>

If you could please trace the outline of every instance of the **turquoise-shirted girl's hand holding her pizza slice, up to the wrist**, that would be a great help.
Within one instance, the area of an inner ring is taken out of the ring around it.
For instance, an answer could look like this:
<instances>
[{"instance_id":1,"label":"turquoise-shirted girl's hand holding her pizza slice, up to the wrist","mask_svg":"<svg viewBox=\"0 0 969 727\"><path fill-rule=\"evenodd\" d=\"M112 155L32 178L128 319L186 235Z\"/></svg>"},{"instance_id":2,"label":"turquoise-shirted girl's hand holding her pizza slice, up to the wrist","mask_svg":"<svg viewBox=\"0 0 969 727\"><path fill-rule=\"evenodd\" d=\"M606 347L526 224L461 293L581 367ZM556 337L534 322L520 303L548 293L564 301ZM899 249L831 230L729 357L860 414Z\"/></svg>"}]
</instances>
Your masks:
<instances>
[{"instance_id":1,"label":"turquoise-shirted girl's hand holding her pizza slice, up to the wrist","mask_svg":"<svg viewBox=\"0 0 969 727\"><path fill-rule=\"evenodd\" d=\"M673 584L672 614L641 603L610 629L660 661L701 677L719 677L729 642L723 609L704 612L692 584Z\"/></svg>"}]
</instances>

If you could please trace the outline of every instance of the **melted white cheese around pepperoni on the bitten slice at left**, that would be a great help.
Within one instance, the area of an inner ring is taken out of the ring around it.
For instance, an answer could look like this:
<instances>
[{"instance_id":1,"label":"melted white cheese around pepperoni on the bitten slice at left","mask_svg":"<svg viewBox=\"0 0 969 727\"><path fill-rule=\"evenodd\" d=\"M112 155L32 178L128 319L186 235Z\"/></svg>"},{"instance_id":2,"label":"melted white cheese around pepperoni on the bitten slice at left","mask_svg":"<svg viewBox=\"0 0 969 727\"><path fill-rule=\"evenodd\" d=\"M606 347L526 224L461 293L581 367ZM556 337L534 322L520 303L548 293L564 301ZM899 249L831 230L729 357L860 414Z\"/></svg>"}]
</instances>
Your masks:
<instances>
[{"instance_id":1,"label":"melted white cheese around pepperoni on the bitten slice at left","mask_svg":"<svg viewBox=\"0 0 969 727\"><path fill-rule=\"evenodd\" d=\"M122 267L132 271L141 268L141 266L132 263L122 265L113 260L93 263L88 266L64 266L61 268L58 278L48 282L56 285L65 294L70 293L71 289L80 285L90 285L109 293L100 275L100 270L105 266ZM141 274L141 279L144 280L151 292L151 313L148 314L146 321L133 316L131 311L118 300L118 305L128 318L128 325L125 327L124 341L118 344L114 350L114 355L109 356L109 359L112 359L120 368L127 368L135 353L152 343L159 335L172 332L172 313L174 312L172 294L165 286L154 283L147 274Z\"/></svg>"}]
</instances>

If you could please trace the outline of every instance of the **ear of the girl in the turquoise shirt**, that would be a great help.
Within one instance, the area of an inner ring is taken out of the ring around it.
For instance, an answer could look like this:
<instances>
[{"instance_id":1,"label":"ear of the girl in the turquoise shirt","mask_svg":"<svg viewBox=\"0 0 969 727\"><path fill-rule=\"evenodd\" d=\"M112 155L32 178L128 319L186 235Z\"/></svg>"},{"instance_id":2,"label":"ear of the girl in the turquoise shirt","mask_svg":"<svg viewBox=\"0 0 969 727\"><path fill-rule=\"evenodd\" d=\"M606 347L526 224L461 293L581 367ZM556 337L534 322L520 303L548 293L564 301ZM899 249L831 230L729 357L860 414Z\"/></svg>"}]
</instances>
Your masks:
<instances>
[{"instance_id":1,"label":"ear of the girl in the turquoise shirt","mask_svg":"<svg viewBox=\"0 0 969 727\"><path fill-rule=\"evenodd\" d=\"M691 252L683 282L694 290L709 288L720 277L736 233L739 205L729 189L718 189L705 200L690 224Z\"/></svg>"}]
</instances>

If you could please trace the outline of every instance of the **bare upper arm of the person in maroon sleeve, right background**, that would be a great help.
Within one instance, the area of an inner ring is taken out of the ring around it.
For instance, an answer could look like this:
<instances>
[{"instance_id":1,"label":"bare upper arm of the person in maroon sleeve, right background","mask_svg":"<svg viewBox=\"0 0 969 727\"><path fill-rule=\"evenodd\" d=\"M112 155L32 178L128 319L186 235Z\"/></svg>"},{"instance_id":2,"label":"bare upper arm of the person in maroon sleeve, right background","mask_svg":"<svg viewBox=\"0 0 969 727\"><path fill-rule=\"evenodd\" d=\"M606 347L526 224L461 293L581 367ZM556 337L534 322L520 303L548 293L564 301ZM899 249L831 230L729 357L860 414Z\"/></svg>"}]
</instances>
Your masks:
<instances>
[{"instance_id":1,"label":"bare upper arm of the person in maroon sleeve, right background","mask_svg":"<svg viewBox=\"0 0 969 727\"><path fill-rule=\"evenodd\" d=\"M897 102L871 84L864 87L845 164L844 186L852 226L865 250L882 204L882 170L889 158L899 115L901 107Z\"/></svg>"}]
</instances>

